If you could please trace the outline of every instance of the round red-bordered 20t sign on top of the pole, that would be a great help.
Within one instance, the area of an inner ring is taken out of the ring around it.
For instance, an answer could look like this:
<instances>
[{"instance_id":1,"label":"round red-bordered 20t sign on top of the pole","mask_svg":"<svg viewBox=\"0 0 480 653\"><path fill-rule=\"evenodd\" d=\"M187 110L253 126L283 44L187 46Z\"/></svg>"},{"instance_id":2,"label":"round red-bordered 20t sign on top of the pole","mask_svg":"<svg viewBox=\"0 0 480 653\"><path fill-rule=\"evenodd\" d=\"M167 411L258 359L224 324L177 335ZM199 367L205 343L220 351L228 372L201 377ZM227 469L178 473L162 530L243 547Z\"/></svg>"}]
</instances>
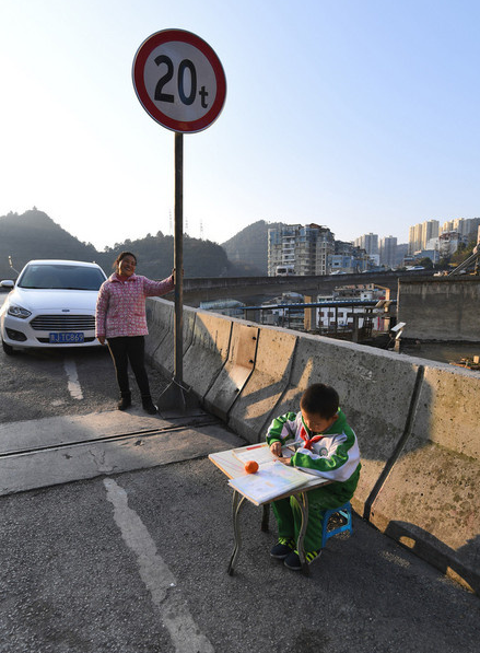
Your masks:
<instances>
[{"instance_id":1,"label":"round red-bordered 20t sign on top of the pole","mask_svg":"<svg viewBox=\"0 0 480 653\"><path fill-rule=\"evenodd\" d=\"M145 112L173 131L206 129L225 102L226 80L220 59L203 39L184 30L149 36L133 59L132 78Z\"/></svg>"}]
</instances>

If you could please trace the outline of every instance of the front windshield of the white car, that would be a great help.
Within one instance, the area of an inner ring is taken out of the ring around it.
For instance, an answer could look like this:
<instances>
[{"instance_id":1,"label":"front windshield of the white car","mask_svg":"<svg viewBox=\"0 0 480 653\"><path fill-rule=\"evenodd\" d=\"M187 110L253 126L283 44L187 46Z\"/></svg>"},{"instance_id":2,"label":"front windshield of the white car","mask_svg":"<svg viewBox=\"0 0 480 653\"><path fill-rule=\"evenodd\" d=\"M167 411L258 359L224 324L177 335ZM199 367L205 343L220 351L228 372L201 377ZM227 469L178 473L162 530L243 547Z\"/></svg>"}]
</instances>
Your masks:
<instances>
[{"instance_id":1,"label":"front windshield of the white car","mask_svg":"<svg viewBox=\"0 0 480 653\"><path fill-rule=\"evenodd\" d=\"M75 265L30 265L17 287L58 290L98 290L105 281L99 268Z\"/></svg>"}]
</instances>

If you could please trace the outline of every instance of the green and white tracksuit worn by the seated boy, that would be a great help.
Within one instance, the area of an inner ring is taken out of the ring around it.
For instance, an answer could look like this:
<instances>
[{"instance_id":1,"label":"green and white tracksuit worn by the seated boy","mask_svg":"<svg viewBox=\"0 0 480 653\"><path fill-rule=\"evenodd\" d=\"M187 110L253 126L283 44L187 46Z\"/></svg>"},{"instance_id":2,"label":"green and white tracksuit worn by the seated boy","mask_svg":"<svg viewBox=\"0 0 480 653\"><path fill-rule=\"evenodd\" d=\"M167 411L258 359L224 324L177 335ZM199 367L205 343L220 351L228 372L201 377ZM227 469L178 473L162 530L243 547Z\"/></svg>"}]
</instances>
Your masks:
<instances>
[{"instance_id":1,"label":"green and white tracksuit worn by the seated boy","mask_svg":"<svg viewBox=\"0 0 480 653\"><path fill-rule=\"evenodd\" d=\"M328 478L333 482L311 490L308 497L308 524L305 534L305 551L315 552L321 548L321 522L326 510L338 508L350 501L360 477L360 452L356 435L339 409L338 419L319 435L306 428L302 412L288 412L272 421L267 432L267 442L281 442L295 448L292 465ZM272 503L279 526L279 537L294 539L295 544L302 524L302 513L296 500L281 499Z\"/></svg>"}]
</instances>

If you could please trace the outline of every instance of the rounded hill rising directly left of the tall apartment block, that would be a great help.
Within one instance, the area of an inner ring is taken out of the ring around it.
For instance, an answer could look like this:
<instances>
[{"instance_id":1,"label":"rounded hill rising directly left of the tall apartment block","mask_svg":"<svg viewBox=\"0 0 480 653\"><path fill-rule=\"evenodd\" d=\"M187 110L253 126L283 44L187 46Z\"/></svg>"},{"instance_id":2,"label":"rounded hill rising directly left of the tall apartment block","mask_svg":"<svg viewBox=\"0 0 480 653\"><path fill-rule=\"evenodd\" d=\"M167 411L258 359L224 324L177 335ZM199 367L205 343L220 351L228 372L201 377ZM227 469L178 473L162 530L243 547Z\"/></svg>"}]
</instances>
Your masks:
<instances>
[{"instance_id":1,"label":"rounded hill rising directly left of the tall apartment block","mask_svg":"<svg viewBox=\"0 0 480 653\"><path fill-rule=\"evenodd\" d=\"M258 220L222 243L222 247L232 264L250 266L253 276L267 276L268 230L282 224Z\"/></svg>"}]
</instances>

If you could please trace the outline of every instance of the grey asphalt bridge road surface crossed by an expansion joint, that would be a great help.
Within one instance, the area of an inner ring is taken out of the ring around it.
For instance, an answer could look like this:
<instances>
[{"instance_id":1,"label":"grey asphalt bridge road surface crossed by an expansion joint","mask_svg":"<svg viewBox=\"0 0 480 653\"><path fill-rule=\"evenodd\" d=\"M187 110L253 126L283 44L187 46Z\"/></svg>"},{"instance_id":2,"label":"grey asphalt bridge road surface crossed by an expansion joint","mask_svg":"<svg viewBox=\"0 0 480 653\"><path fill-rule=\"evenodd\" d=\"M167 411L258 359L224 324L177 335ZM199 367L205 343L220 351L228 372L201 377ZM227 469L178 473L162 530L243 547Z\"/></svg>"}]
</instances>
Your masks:
<instances>
[{"instance_id":1,"label":"grey asphalt bridge road surface crossed by an expansion joint","mask_svg":"<svg viewBox=\"0 0 480 653\"><path fill-rule=\"evenodd\" d=\"M105 350L1 352L0 371L0 451L31 447L0 458L0 481L13 468L44 486L0 497L0 653L478 652L478 596L359 517L306 578L269 557L273 518L262 533L247 503L229 576L232 495L207 450L238 439L213 420L119 413ZM80 442L82 423L112 440L56 446L59 433ZM85 451L93 466L126 451L154 466L82 478ZM75 459L68 481L56 476Z\"/></svg>"}]
</instances>

